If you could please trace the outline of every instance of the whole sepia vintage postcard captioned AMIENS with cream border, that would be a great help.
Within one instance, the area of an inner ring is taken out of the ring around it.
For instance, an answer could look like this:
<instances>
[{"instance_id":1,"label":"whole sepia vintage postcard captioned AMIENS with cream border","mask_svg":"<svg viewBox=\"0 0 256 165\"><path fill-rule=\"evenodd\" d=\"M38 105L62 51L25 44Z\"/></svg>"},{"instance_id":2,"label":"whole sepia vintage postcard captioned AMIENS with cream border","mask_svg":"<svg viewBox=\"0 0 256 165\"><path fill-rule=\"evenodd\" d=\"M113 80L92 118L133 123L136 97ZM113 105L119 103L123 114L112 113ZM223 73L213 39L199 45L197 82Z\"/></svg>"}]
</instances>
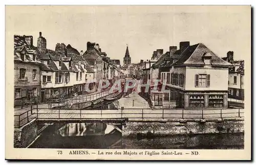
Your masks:
<instances>
[{"instance_id":1,"label":"whole sepia vintage postcard captioned AMIENS with cream border","mask_svg":"<svg viewBox=\"0 0 256 165\"><path fill-rule=\"evenodd\" d=\"M6 6L6 159L250 160L251 6Z\"/></svg>"}]
</instances>

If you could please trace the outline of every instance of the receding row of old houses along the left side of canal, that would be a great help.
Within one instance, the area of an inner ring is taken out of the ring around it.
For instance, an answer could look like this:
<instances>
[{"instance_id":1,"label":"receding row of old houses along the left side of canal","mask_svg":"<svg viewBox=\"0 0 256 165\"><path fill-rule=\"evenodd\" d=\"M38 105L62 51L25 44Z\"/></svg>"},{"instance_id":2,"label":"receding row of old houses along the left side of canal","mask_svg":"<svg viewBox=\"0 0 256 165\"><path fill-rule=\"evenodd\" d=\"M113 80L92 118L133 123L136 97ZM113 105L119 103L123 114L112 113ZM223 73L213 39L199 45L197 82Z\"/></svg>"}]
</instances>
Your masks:
<instances>
[{"instance_id":1,"label":"receding row of old houses along the left side of canal","mask_svg":"<svg viewBox=\"0 0 256 165\"><path fill-rule=\"evenodd\" d=\"M84 53L63 43L51 50L41 32L37 46L33 36L14 35L14 106L32 99L45 102L55 94L72 97L94 92L98 80L114 81L119 72L98 44L88 42Z\"/></svg>"}]
</instances>

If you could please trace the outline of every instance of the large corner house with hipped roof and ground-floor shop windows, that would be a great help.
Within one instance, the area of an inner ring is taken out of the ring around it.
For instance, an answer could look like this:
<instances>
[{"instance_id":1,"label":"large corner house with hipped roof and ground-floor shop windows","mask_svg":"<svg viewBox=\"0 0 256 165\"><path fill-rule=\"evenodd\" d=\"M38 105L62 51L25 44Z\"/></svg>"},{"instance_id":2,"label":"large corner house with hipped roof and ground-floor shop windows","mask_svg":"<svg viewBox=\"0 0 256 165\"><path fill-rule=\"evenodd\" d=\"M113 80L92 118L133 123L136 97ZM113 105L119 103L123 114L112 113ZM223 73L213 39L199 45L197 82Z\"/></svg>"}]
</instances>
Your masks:
<instances>
[{"instance_id":1,"label":"large corner house with hipped roof and ground-floor shop windows","mask_svg":"<svg viewBox=\"0 0 256 165\"><path fill-rule=\"evenodd\" d=\"M165 91L151 91L154 106L226 108L230 65L203 43L180 42L180 49L160 65Z\"/></svg>"}]
</instances>

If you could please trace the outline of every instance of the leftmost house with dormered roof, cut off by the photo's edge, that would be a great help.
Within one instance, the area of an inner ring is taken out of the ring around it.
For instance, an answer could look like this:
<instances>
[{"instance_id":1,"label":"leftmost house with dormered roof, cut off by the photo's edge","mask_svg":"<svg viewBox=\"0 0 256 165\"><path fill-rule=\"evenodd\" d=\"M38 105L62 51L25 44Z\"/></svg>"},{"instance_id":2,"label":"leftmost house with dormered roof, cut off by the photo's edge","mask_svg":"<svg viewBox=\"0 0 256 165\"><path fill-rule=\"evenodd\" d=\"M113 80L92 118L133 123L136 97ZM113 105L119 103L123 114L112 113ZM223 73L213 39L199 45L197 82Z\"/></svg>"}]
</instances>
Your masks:
<instances>
[{"instance_id":1,"label":"leftmost house with dormered roof, cut off by the photo's edge","mask_svg":"<svg viewBox=\"0 0 256 165\"><path fill-rule=\"evenodd\" d=\"M14 106L40 100L40 64L26 37L14 35Z\"/></svg>"}]
</instances>

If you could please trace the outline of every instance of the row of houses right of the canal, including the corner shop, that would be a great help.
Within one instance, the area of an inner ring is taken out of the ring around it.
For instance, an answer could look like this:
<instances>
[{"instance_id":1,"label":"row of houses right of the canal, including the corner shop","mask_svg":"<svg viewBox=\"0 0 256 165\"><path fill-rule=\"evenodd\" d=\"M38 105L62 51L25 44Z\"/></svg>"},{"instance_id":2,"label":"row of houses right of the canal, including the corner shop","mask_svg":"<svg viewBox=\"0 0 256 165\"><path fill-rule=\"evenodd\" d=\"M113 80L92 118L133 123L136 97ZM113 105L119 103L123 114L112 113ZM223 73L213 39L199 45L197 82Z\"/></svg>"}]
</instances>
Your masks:
<instances>
[{"instance_id":1,"label":"row of houses right of the canal, including the corner shop","mask_svg":"<svg viewBox=\"0 0 256 165\"><path fill-rule=\"evenodd\" d=\"M142 81L150 89L142 87L142 94L154 108L226 108L229 96L244 98L243 65L233 60L233 52L222 59L203 43L180 42L179 49L157 49L144 62Z\"/></svg>"}]
</instances>

